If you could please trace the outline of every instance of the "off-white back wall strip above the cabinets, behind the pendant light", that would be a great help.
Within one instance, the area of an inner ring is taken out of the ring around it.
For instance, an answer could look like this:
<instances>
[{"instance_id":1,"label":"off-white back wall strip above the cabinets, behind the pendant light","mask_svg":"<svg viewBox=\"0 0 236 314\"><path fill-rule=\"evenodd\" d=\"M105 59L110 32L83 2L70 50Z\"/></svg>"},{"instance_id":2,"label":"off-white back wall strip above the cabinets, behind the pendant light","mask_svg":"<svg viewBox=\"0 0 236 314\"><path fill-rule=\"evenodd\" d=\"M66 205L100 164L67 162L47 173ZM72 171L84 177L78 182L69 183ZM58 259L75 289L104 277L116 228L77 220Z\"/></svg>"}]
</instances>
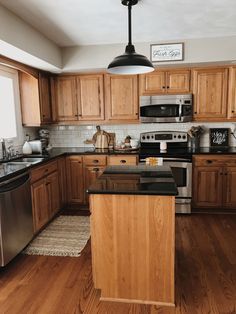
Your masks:
<instances>
[{"instance_id":1,"label":"off-white back wall strip above the cabinets, behind the pendant light","mask_svg":"<svg viewBox=\"0 0 236 314\"><path fill-rule=\"evenodd\" d=\"M180 39L175 42L184 42L184 61L172 63L161 62L156 63L156 66L236 61L236 36L188 40ZM159 43L158 39L155 43ZM135 44L136 52L150 58L150 44L154 44L154 42ZM117 45L91 45L63 48L63 72L105 69L114 57L124 52L125 45L124 43Z\"/></svg>"}]
</instances>

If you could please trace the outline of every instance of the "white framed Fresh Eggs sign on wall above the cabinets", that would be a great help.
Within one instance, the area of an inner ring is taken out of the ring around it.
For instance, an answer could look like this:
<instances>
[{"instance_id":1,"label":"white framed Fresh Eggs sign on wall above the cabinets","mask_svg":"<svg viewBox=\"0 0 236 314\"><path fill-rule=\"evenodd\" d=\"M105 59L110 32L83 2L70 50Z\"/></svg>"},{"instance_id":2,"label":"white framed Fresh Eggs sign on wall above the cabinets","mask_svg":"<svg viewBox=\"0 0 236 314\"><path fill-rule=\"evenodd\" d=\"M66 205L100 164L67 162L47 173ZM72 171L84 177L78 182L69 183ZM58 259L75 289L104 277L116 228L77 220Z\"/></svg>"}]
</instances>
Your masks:
<instances>
[{"instance_id":1,"label":"white framed Fresh Eggs sign on wall above the cabinets","mask_svg":"<svg viewBox=\"0 0 236 314\"><path fill-rule=\"evenodd\" d=\"M151 45L151 61L182 61L184 60L184 43Z\"/></svg>"}]
</instances>

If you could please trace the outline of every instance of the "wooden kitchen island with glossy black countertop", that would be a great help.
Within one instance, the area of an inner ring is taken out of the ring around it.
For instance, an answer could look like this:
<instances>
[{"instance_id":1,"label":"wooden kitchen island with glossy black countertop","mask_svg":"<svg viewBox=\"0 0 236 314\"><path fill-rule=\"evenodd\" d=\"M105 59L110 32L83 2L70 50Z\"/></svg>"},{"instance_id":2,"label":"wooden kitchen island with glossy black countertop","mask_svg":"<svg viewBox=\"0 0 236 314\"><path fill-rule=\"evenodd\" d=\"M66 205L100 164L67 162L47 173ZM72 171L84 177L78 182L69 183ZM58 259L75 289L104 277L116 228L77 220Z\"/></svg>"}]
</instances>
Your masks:
<instances>
[{"instance_id":1,"label":"wooden kitchen island with glossy black countertop","mask_svg":"<svg viewBox=\"0 0 236 314\"><path fill-rule=\"evenodd\" d=\"M177 188L170 168L110 166L88 193L101 300L174 306Z\"/></svg>"}]
</instances>

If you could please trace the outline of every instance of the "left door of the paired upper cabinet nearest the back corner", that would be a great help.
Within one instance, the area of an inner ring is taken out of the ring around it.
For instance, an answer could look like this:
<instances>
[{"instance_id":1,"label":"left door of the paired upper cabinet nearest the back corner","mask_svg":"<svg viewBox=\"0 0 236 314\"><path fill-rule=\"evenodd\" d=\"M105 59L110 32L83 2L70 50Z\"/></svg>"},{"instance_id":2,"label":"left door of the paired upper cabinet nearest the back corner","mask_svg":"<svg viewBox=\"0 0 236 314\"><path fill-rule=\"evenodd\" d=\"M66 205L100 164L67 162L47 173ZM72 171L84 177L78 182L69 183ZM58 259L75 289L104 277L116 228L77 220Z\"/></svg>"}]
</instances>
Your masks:
<instances>
[{"instance_id":1,"label":"left door of the paired upper cabinet nearest the back corner","mask_svg":"<svg viewBox=\"0 0 236 314\"><path fill-rule=\"evenodd\" d=\"M76 79L74 76L59 76L55 80L55 98L58 121L78 120Z\"/></svg>"}]
</instances>

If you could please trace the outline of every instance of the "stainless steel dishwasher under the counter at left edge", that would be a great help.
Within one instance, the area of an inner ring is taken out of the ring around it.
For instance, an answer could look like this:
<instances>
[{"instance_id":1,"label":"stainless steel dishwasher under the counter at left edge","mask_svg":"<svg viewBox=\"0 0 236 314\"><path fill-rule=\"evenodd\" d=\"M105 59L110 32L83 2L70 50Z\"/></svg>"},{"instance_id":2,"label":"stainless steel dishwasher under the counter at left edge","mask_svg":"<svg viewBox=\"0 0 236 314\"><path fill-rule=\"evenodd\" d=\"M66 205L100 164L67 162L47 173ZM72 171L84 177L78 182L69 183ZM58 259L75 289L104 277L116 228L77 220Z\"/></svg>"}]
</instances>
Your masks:
<instances>
[{"instance_id":1,"label":"stainless steel dishwasher under the counter at left edge","mask_svg":"<svg viewBox=\"0 0 236 314\"><path fill-rule=\"evenodd\" d=\"M9 263L33 238L30 175L0 183L0 266Z\"/></svg>"}]
</instances>

